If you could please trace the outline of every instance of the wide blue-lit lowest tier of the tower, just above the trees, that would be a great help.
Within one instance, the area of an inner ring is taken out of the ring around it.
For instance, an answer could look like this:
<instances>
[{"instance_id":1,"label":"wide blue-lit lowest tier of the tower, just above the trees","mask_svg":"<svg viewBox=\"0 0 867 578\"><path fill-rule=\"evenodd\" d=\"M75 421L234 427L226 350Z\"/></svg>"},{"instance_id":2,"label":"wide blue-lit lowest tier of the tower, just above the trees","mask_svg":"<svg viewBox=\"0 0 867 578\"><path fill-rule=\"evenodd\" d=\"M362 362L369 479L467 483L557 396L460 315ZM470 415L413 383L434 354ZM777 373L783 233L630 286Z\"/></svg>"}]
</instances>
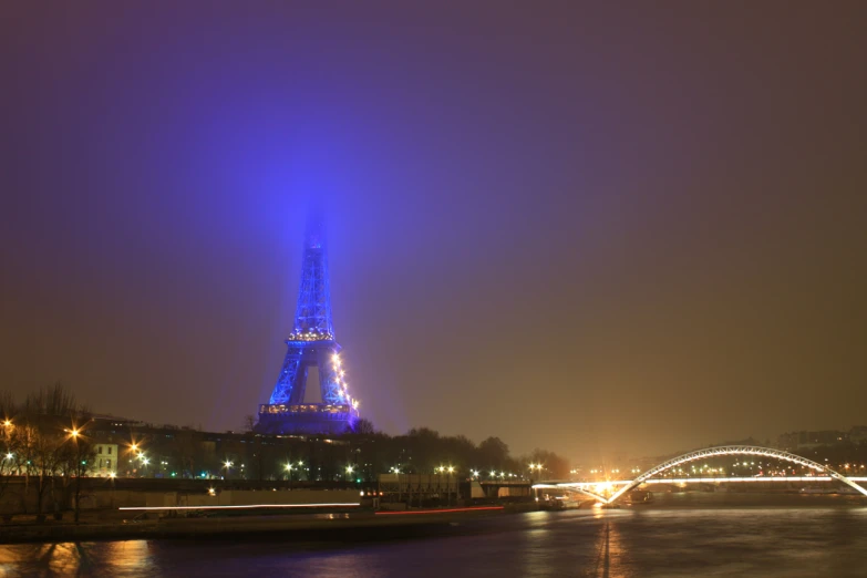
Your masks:
<instances>
[{"instance_id":1,"label":"wide blue-lit lowest tier of the tower, just above the trees","mask_svg":"<svg viewBox=\"0 0 867 578\"><path fill-rule=\"evenodd\" d=\"M358 412L349 405L324 403L259 405L256 431L264 434L349 433L355 426Z\"/></svg>"}]
</instances>

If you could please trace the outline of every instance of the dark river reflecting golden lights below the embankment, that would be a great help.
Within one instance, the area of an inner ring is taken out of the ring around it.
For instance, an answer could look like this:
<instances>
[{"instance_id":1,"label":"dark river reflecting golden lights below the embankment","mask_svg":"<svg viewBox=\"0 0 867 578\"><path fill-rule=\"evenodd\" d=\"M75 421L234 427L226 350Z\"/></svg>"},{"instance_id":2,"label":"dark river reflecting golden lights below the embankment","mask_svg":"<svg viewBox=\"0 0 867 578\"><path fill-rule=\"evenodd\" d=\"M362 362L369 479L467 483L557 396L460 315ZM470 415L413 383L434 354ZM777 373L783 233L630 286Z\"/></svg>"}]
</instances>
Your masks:
<instances>
[{"instance_id":1,"label":"dark river reflecting golden lights below the embankment","mask_svg":"<svg viewBox=\"0 0 867 578\"><path fill-rule=\"evenodd\" d=\"M665 496L455 528L462 534L358 544L250 537L0 546L0 576L867 577L867 505L858 498Z\"/></svg>"}]
</instances>

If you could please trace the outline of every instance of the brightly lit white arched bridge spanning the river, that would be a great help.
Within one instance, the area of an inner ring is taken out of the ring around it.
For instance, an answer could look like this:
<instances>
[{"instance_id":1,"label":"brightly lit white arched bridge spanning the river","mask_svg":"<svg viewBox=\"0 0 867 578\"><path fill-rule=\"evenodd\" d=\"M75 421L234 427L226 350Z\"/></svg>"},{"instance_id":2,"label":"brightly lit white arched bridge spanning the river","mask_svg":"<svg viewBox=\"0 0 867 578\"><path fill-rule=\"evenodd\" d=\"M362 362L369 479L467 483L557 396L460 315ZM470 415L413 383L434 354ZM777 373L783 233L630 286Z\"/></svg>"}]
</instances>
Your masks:
<instances>
[{"instance_id":1,"label":"brightly lit white arched bridge spanning the river","mask_svg":"<svg viewBox=\"0 0 867 578\"><path fill-rule=\"evenodd\" d=\"M673 467L680 466L689 462L695 462L696 460L706 460L709 457L719 457L723 455L753 455L753 456L770 457L773 460L789 462L792 464L797 464L799 466L807 467L815 472L814 476L812 477L803 477L797 479L803 479L803 481L807 481L807 479L835 481L836 479L838 482L843 482L844 484L855 488L861 495L867 496L867 489L865 489L864 487L861 487L856 483L856 481L864 482L865 478L850 478L844 476L838 472L835 472L834 469L832 469L826 465L819 464L818 462L814 462L813 460L807 460L806 457L799 455L791 454L788 452L783 452L782 450L772 450L770 447L760 447L756 445L721 445L718 447L708 447L704 450L696 450L694 452L683 454L681 456L663 462L654 467L651 467L650 469L639 475L634 479L603 483L603 484L611 484L612 486L615 485L620 486L610 495L610 497L606 497L600 493L594 491L594 488L600 484L598 482L549 482L549 483L536 484L533 487L567 489L570 492L578 492L580 494L590 496L605 504L613 504L623 494L631 492L632 489L637 488L641 484L652 483L653 481L656 481L657 476L668 472ZM777 478L767 477L767 478L743 478L743 479L763 481L763 479L777 479ZM788 479L788 478L782 478L782 479ZM734 479L733 478L692 478L690 481L691 482L730 482Z\"/></svg>"}]
</instances>

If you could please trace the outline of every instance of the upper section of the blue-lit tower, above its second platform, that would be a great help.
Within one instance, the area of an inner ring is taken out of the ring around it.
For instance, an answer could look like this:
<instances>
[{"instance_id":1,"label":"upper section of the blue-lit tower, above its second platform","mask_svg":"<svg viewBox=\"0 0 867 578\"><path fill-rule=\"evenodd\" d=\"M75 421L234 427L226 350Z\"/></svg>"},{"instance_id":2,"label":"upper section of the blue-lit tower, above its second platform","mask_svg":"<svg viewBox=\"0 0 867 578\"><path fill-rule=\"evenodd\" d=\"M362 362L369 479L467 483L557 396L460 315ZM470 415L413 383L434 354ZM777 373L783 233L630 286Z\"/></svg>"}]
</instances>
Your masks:
<instances>
[{"instance_id":1,"label":"upper section of the blue-lit tower, above its second platform","mask_svg":"<svg viewBox=\"0 0 867 578\"><path fill-rule=\"evenodd\" d=\"M301 282L289 341L333 341L324 211L311 206L305 230Z\"/></svg>"}]
</instances>

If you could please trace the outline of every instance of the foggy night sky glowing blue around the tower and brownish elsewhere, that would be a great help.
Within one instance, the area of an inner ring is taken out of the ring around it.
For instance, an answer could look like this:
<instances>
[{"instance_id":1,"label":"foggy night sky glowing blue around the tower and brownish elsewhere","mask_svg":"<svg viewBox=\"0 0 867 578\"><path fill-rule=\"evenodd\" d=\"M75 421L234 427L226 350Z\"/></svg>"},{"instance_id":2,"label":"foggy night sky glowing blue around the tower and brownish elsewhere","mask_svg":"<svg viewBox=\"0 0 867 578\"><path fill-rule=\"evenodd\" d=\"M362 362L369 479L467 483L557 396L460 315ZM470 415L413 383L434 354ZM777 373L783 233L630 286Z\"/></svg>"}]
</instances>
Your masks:
<instances>
[{"instance_id":1,"label":"foggy night sky glowing blue around the tower and brownish elsewhere","mask_svg":"<svg viewBox=\"0 0 867 578\"><path fill-rule=\"evenodd\" d=\"M866 3L130 4L0 6L19 399L240 429L322 195L389 433L582 461L867 423Z\"/></svg>"}]
</instances>

